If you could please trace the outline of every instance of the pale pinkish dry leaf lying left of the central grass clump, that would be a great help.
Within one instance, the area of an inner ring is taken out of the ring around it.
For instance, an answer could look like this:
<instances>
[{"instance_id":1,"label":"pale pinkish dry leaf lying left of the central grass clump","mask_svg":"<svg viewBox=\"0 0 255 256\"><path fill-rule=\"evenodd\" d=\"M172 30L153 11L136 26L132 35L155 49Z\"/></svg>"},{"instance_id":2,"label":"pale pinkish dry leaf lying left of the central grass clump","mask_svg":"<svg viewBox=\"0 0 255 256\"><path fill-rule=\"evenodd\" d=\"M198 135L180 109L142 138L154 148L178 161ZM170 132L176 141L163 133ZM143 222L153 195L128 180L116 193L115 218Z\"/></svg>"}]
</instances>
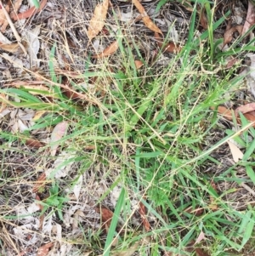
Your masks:
<instances>
[{"instance_id":1,"label":"pale pinkish dry leaf lying left of the central grass clump","mask_svg":"<svg viewBox=\"0 0 255 256\"><path fill-rule=\"evenodd\" d=\"M55 156L57 152L57 148L59 146L58 140L62 139L66 134L68 128L68 122L59 122L52 131L50 142L51 145L51 156Z\"/></svg>"}]
</instances>

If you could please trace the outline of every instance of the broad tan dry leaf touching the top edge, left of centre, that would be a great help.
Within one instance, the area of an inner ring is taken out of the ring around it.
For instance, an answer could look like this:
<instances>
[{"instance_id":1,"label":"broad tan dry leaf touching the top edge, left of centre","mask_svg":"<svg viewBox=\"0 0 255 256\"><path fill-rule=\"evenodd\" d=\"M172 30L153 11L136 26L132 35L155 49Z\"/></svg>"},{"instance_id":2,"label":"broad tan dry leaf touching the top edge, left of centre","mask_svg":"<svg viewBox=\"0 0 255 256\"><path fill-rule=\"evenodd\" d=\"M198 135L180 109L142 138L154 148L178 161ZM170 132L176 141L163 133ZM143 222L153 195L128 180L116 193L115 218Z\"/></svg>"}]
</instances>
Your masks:
<instances>
[{"instance_id":1,"label":"broad tan dry leaf touching the top edge, left of centre","mask_svg":"<svg viewBox=\"0 0 255 256\"><path fill-rule=\"evenodd\" d=\"M106 14L108 11L109 0L99 3L94 9L94 15L88 26L88 39L92 40L96 37L99 31L105 26Z\"/></svg>"}]
</instances>

